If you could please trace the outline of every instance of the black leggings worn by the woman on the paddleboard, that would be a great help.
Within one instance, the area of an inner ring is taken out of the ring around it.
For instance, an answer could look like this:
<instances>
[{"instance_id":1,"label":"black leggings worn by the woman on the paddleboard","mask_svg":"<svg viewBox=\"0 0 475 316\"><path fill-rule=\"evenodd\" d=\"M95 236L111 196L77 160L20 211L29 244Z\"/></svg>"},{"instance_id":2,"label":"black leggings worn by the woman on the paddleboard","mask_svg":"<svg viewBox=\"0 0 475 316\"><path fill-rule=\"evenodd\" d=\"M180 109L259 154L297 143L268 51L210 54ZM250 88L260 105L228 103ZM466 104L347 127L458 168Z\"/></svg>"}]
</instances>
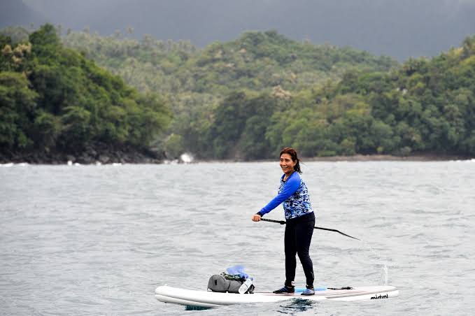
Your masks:
<instances>
[{"instance_id":1,"label":"black leggings worn by the woman on the paddleboard","mask_svg":"<svg viewBox=\"0 0 475 316\"><path fill-rule=\"evenodd\" d=\"M288 220L285 225L285 285L292 285L295 279L295 268L297 267L295 255L298 254L304 268L306 285L313 287L313 263L310 259L309 248L314 226L315 215L313 212Z\"/></svg>"}]
</instances>

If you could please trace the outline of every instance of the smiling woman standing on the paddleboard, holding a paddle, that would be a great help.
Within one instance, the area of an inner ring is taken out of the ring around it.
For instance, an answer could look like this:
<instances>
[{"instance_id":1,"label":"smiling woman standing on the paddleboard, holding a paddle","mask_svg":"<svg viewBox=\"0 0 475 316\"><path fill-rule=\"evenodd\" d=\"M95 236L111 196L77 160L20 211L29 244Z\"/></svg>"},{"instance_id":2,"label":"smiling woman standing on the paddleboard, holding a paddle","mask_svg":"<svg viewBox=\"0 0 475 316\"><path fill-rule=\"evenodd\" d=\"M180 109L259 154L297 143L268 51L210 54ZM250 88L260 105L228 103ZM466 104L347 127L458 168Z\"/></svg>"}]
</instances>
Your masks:
<instances>
[{"instance_id":1,"label":"smiling woman standing on the paddleboard, holding a paddle","mask_svg":"<svg viewBox=\"0 0 475 316\"><path fill-rule=\"evenodd\" d=\"M285 220L285 284L274 293L295 292L295 268L297 261L295 254L299 255L306 278L306 290L302 295L313 295L313 264L309 255L309 247L315 226L315 214L310 203L309 192L304 181L300 178L299 158L293 148L284 148L281 151L281 168L284 174L281 177L281 186L277 196L267 206L253 215L253 221L259 222L264 214L274 210L283 203Z\"/></svg>"}]
</instances>

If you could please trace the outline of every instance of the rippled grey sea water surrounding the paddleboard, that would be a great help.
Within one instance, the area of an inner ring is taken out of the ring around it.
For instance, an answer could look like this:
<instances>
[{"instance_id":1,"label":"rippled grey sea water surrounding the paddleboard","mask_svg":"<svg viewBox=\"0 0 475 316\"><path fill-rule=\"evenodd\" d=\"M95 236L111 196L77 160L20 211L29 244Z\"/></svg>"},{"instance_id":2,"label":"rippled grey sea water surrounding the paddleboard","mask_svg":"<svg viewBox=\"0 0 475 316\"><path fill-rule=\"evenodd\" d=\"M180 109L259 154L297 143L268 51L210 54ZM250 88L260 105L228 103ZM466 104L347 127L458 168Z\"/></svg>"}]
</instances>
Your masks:
<instances>
[{"instance_id":1,"label":"rippled grey sea water surrounding the paddleboard","mask_svg":"<svg viewBox=\"0 0 475 316\"><path fill-rule=\"evenodd\" d=\"M155 299L158 285L206 289L234 264L257 291L283 285L284 227L250 220L276 194L277 161L3 165L0 315L472 315L475 161L314 161L303 171L316 225L362 240L314 231L315 285L387 282L399 297L199 311ZM267 218L282 220L282 208Z\"/></svg>"}]
</instances>

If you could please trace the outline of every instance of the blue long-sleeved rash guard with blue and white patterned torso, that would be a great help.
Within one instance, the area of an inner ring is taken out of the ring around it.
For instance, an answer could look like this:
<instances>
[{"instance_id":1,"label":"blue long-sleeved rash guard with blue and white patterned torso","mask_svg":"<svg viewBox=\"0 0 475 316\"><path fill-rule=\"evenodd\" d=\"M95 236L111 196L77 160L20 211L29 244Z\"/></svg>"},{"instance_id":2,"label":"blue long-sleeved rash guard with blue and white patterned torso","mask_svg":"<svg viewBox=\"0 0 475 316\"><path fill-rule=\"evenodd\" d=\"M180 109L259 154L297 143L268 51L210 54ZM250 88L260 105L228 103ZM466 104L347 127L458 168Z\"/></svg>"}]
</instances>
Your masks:
<instances>
[{"instance_id":1,"label":"blue long-sleeved rash guard with blue and white patterned torso","mask_svg":"<svg viewBox=\"0 0 475 316\"><path fill-rule=\"evenodd\" d=\"M286 181L283 180L284 177L285 174L282 175L281 186L278 188L277 196L257 214L264 216L264 214L274 210L281 203L283 203L285 220L313 212L309 190L307 190L305 182L300 178L299 173L293 172Z\"/></svg>"}]
</instances>

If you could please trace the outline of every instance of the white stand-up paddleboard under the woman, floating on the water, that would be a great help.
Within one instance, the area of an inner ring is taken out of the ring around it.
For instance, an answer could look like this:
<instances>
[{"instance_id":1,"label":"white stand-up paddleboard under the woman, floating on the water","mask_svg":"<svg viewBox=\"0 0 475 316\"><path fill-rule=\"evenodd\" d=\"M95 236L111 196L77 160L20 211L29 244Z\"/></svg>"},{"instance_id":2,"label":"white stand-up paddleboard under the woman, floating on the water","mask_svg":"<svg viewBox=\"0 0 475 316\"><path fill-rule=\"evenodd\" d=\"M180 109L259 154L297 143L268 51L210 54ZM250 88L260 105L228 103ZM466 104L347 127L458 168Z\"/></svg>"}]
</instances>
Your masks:
<instances>
[{"instance_id":1,"label":"white stand-up paddleboard under the woman, floating on the water","mask_svg":"<svg viewBox=\"0 0 475 316\"><path fill-rule=\"evenodd\" d=\"M155 289L157 300L165 303L176 303L199 308L213 308L218 306L246 303L274 303L288 299L306 299L311 301L360 301L388 299L399 295L396 287L381 285L375 287L347 287L342 289L322 289L315 295L302 296L301 291L292 294L274 294L257 292L254 294L218 293L211 291L196 291L192 289L179 289L166 285Z\"/></svg>"}]
</instances>

